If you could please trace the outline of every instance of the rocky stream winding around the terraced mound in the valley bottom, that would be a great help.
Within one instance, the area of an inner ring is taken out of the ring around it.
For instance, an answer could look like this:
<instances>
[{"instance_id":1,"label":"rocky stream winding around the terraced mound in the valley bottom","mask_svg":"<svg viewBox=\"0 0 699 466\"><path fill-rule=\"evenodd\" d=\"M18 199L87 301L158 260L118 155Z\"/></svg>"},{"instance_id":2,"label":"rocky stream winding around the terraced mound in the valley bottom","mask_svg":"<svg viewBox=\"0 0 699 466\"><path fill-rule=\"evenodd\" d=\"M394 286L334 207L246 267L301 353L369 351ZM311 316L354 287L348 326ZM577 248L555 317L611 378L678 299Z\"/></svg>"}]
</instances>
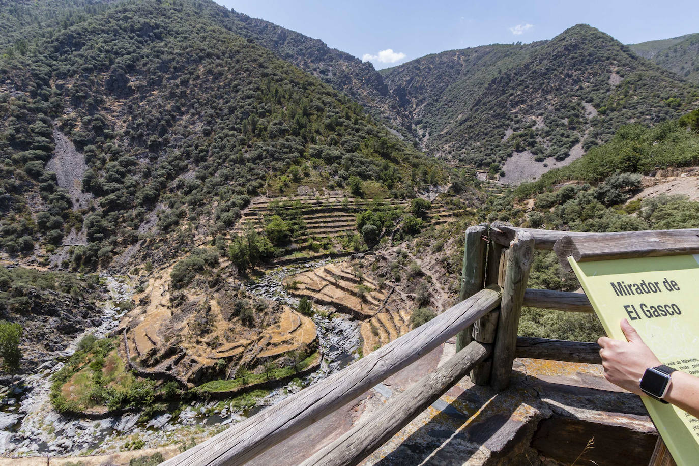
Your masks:
<instances>
[{"instance_id":1,"label":"rocky stream winding around the terraced mound in the valley bottom","mask_svg":"<svg viewBox=\"0 0 699 466\"><path fill-rule=\"evenodd\" d=\"M282 280L287 275L315 268L326 261L268 270L261 277L244 284L250 293L296 307L298 301L284 290ZM117 303L131 299L134 288L127 277L104 276L109 291L103 303L102 324L79 335L55 360L45 363L34 374L22 377L0 394L0 455L30 456L79 455L124 449L127 442L139 439L144 448L187 442L196 433L197 438L208 437L227 425L256 414L264 407L274 405L301 387L291 383L276 388L257 405L234 411L234 405L217 400L195 401L190 405L173 404L170 412L160 412L143 421L141 413L127 412L99 420L62 416L50 403L50 377L61 369L87 333L105 337L117 328L123 313ZM349 316L329 319L316 315L319 347L323 362L319 369L303 379L303 386L327 377L356 358L359 347L359 327ZM176 405L176 406L175 406ZM173 416L173 413L176 414Z\"/></svg>"}]
</instances>

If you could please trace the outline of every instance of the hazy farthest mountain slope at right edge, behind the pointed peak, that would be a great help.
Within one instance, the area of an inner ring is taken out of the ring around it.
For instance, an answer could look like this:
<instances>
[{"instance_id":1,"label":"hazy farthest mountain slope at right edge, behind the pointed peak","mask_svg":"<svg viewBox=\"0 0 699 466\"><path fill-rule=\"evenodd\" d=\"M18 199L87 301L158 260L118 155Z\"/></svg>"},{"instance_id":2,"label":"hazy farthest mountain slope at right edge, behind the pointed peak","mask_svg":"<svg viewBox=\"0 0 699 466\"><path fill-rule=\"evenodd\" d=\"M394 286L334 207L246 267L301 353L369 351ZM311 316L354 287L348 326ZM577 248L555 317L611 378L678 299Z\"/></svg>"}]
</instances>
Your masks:
<instances>
[{"instance_id":1,"label":"hazy farthest mountain slope at right edge, behind the pointed peak","mask_svg":"<svg viewBox=\"0 0 699 466\"><path fill-rule=\"evenodd\" d=\"M699 34L631 44L628 48L661 68L699 84Z\"/></svg>"}]
</instances>

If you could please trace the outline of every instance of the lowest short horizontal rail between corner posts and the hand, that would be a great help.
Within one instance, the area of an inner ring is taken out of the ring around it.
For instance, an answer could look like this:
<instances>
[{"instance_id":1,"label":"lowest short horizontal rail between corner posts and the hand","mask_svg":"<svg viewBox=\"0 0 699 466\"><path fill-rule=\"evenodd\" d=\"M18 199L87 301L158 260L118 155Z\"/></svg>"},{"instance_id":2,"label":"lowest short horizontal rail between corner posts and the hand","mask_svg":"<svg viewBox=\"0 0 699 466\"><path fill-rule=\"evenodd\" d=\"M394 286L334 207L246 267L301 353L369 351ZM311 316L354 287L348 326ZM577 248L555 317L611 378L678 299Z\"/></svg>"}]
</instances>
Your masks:
<instances>
[{"instance_id":1,"label":"lowest short horizontal rail between corner posts and the hand","mask_svg":"<svg viewBox=\"0 0 699 466\"><path fill-rule=\"evenodd\" d=\"M514 355L517 358L602 364L600 347L596 343L550 340L549 338L517 337Z\"/></svg>"}]
</instances>

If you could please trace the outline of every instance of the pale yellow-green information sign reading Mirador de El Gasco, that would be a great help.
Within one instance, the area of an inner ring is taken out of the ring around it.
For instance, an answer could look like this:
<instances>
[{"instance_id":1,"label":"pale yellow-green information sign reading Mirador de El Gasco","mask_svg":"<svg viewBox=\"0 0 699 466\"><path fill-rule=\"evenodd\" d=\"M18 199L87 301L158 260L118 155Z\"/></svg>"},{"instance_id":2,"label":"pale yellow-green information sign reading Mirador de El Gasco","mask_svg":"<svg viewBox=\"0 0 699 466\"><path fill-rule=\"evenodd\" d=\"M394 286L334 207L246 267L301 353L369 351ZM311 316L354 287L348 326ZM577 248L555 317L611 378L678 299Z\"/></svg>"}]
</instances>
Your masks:
<instances>
[{"instance_id":1,"label":"pale yellow-green information sign reading Mirador de El Gasco","mask_svg":"<svg viewBox=\"0 0 699 466\"><path fill-rule=\"evenodd\" d=\"M607 335L628 319L663 364L699 376L699 255L575 262L568 258ZM641 397L678 465L699 463L699 419Z\"/></svg>"}]
</instances>

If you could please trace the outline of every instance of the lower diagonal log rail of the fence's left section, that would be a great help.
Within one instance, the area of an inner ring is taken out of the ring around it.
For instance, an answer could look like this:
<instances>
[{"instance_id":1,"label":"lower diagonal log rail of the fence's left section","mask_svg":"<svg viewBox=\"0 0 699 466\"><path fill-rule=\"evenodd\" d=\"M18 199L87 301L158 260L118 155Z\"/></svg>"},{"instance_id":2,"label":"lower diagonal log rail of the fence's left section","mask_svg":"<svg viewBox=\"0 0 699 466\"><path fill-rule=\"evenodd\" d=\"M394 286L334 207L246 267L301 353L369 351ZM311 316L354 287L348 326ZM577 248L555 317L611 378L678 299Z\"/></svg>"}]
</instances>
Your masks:
<instances>
[{"instance_id":1,"label":"lower diagonal log rail of the fence's left section","mask_svg":"<svg viewBox=\"0 0 699 466\"><path fill-rule=\"evenodd\" d=\"M366 421L301 463L301 466L354 466L396 435L412 419L439 400L491 351L491 345L470 342L435 372L426 375Z\"/></svg>"}]
</instances>

